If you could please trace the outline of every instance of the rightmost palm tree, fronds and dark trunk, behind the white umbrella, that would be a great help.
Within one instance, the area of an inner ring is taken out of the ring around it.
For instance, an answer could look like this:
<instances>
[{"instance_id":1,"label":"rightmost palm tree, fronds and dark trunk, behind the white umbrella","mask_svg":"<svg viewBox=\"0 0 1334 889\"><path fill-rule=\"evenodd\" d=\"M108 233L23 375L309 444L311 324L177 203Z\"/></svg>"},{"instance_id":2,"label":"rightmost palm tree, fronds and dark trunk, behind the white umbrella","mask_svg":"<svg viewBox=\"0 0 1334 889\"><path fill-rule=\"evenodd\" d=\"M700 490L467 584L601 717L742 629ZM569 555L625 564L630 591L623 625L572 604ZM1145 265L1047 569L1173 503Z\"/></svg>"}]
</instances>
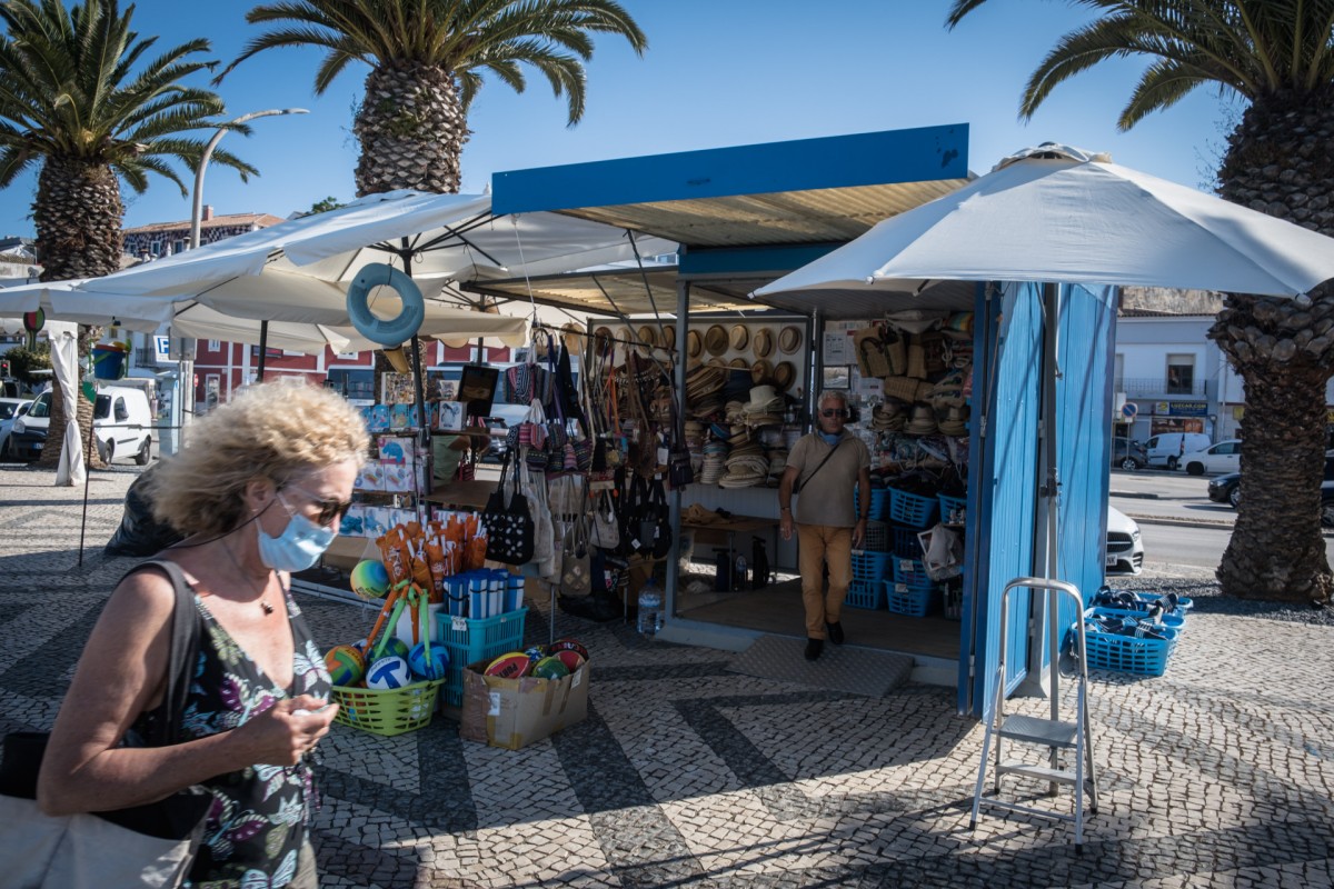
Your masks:
<instances>
[{"instance_id":1,"label":"rightmost palm tree, fronds and dark trunk, behind the white umbrella","mask_svg":"<svg viewBox=\"0 0 1334 889\"><path fill-rule=\"evenodd\" d=\"M986 0L955 0L952 28ZM1051 91L1101 61L1150 60L1118 124L1130 129L1201 87L1246 103L1229 133L1219 195L1334 235L1334 1L1079 0L1102 11L1065 35L1029 77L1030 119ZM1291 301L1231 293L1209 336L1246 385L1242 509L1218 568L1223 593L1329 602L1319 524L1325 387L1334 372L1334 295ZM1247 460L1247 454L1254 454Z\"/></svg>"}]
</instances>

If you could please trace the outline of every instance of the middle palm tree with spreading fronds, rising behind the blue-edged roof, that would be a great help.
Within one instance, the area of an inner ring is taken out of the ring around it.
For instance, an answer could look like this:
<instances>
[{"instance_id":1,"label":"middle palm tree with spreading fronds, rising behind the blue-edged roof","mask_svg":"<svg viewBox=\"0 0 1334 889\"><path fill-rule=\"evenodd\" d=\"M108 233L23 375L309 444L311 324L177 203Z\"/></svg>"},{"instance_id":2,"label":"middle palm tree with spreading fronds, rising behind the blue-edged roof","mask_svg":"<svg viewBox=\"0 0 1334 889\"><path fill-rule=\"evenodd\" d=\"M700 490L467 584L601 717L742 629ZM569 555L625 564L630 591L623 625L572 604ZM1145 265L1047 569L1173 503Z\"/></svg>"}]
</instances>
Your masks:
<instances>
[{"instance_id":1,"label":"middle palm tree with spreading fronds, rising behind the blue-edged roof","mask_svg":"<svg viewBox=\"0 0 1334 889\"><path fill-rule=\"evenodd\" d=\"M615 0L287 0L245 19L293 24L251 40L221 76L275 47L328 49L316 95L350 63L371 67L354 124L359 197L398 188L458 192L468 107L483 76L523 92L522 67L536 68L566 96L575 124L584 112L591 35L622 35L639 53L647 47Z\"/></svg>"}]
</instances>

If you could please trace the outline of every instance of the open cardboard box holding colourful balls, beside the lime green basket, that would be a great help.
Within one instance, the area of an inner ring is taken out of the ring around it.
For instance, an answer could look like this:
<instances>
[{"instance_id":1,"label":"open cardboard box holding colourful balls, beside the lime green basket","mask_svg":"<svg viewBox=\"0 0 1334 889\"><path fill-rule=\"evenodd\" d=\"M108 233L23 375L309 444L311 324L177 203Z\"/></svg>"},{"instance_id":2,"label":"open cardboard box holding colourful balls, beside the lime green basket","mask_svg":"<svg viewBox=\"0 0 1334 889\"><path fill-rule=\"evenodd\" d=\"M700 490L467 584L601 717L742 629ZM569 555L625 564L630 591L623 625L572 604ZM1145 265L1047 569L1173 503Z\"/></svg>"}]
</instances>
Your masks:
<instances>
[{"instance_id":1,"label":"open cardboard box holding colourful balls, beside the lime green basket","mask_svg":"<svg viewBox=\"0 0 1334 889\"><path fill-rule=\"evenodd\" d=\"M459 737L518 750L588 716L588 665L559 680L483 676L486 662L463 672Z\"/></svg>"}]
</instances>

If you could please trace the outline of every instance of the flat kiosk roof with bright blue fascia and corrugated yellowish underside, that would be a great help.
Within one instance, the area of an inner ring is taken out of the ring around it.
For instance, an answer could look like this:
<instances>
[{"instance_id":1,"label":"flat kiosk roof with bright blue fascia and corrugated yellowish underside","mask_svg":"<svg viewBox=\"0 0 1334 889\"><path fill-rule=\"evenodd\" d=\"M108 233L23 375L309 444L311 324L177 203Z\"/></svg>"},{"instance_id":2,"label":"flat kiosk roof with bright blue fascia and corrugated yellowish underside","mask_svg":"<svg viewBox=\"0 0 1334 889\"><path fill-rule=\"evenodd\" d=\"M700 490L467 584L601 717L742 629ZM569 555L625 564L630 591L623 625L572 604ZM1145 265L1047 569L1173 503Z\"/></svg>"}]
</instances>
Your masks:
<instances>
[{"instance_id":1,"label":"flat kiosk roof with bright blue fascia and corrugated yellowish underside","mask_svg":"<svg viewBox=\"0 0 1334 889\"><path fill-rule=\"evenodd\" d=\"M967 124L496 173L496 213L556 211L676 241L848 241L968 181Z\"/></svg>"}]
</instances>

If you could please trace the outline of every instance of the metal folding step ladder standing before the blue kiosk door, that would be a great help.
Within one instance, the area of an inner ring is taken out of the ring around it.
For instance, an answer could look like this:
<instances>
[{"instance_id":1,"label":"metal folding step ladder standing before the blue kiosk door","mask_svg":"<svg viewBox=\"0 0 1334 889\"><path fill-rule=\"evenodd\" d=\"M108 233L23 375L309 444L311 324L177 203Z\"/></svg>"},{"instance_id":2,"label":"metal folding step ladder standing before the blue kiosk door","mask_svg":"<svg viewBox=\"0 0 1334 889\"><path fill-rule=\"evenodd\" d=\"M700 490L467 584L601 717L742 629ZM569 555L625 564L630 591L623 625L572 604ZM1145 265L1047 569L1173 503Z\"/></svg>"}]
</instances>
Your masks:
<instances>
[{"instance_id":1,"label":"metal folding step ladder standing before the blue kiosk door","mask_svg":"<svg viewBox=\"0 0 1334 889\"><path fill-rule=\"evenodd\" d=\"M1050 670L1049 688L1051 689L1050 718L1022 716L1018 713L1006 716L1005 713L1005 658L1007 650L1006 634L1010 626L1010 593L1021 588L1047 590L1047 608L1049 614L1051 616L1047 633L1051 637L1049 650L1050 657L1047 658L1047 669ZM1077 614L1079 616L1075 621L1075 645L1078 645L1075 654L1079 664L1075 678L1078 700L1075 701L1075 718L1073 722L1061 718L1061 672L1058 662L1065 632L1059 628L1057 605L1062 596L1070 597L1070 600L1075 604ZM982 804L986 804L996 809L1025 812L1027 814L1055 818L1058 821L1073 821L1075 825L1075 852L1078 853L1083 850L1085 793L1089 794L1089 813L1098 814L1098 776L1094 772L1093 734L1089 728L1089 666L1087 658L1085 657L1083 608L1083 598L1079 596L1078 588L1073 584L1066 584L1059 580L1047 580L1045 577L1018 577L1011 580L1006 585L1005 592L1000 593L1000 662L996 666L995 701L991 706L991 718L987 720L987 733L982 741L982 762L978 765L978 784L972 793L972 818L968 821L970 830L978 826L978 809ZM1005 761L1002 758L1002 746L1006 740L1014 741L1015 744L1030 744L1039 748L1047 748L1047 762L1030 764ZM987 760L992 742L995 744L995 762L992 765L994 794L1000 793L1000 777L1005 774L1018 774L1022 777L1037 778L1039 781L1047 781L1051 785L1050 794L1053 796L1057 793L1059 785L1069 785L1075 789L1074 813L1066 814L1053 809L1038 809L994 797L983 800L982 792L986 785ZM1062 764L1062 756L1065 754L1065 757L1069 757L1071 750L1074 752L1073 769L1070 768L1070 764ZM1085 769L1087 769L1087 778Z\"/></svg>"}]
</instances>

